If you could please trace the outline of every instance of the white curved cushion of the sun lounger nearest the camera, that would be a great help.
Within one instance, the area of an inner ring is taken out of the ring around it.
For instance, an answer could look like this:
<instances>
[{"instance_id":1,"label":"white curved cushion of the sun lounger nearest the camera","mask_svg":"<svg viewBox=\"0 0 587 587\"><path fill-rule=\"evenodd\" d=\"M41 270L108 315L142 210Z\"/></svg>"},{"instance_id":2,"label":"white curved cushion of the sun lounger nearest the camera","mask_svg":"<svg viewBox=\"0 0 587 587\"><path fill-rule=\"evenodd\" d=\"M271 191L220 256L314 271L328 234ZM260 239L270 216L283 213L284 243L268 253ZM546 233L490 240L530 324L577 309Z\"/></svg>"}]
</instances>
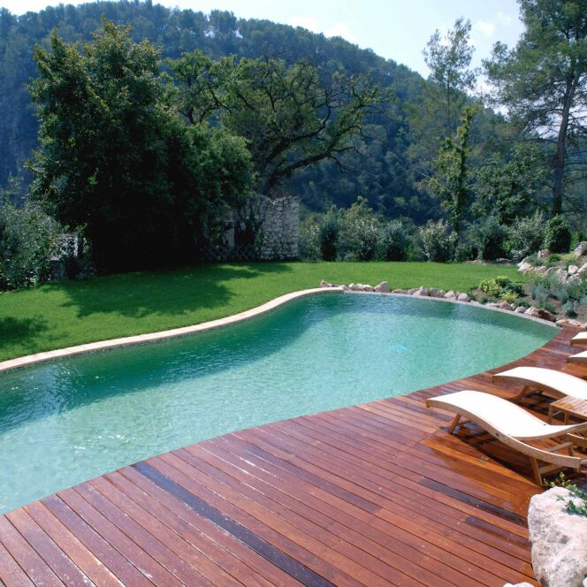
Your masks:
<instances>
[{"instance_id":1,"label":"white curved cushion of the sun lounger nearest the camera","mask_svg":"<svg viewBox=\"0 0 587 587\"><path fill-rule=\"evenodd\" d=\"M518 440L556 438L577 428L587 428L587 423L567 426L545 423L517 404L491 393L466 390L431 398L429 402L436 408L469 417L482 427L487 423L495 431Z\"/></svg>"}]
</instances>

